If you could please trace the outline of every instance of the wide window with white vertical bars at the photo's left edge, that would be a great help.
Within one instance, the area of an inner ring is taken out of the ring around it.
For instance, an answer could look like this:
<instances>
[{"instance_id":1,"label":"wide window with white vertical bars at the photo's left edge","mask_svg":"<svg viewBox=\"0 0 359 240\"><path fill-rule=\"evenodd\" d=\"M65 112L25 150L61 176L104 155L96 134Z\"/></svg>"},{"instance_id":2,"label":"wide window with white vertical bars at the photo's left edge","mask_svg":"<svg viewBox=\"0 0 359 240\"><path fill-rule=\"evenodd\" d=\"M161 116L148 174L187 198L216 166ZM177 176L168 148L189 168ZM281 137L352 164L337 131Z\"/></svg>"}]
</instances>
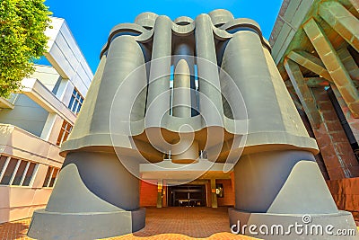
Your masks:
<instances>
[{"instance_id":1,"label":"wide window with white vertical bars at the photo's left edge","mask_svg":"<svg viewBox=\"0 0 359 240\"><path fill-rule=\"evenodd\" d=\"M11 156L0 156L0 184L30 186L37 164Z\"/></svg>"}]
</instances>

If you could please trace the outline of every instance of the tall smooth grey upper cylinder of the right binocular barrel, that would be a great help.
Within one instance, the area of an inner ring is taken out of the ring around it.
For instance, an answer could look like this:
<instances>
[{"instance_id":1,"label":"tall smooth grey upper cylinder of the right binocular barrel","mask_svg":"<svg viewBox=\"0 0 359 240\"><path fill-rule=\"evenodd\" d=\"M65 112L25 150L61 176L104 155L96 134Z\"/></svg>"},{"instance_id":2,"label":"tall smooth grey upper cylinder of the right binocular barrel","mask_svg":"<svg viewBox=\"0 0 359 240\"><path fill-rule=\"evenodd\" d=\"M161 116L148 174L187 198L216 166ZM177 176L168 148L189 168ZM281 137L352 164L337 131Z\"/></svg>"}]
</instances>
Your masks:
<instances>
[{"instance_id":1,"label":"tall smooth grey upper cylinder of the right binocular barrel","mask_svg":"<svg viewBox=\"0 0 359 240\"><path fill-rule=\"evenodd\" d=\"M233 118L241 120L248 117L251 122L249 132L267 132L272 129L285 131L283 124L279 124L283 118L278 102L268 101L276 99L277 96L258 34L254 31L236 32L224 50L222 67L234 82L232 87L230 85L225 88L225 92L223 90L232 107ZM226 79L221 79L223 84L224 80ZM266 91L258 94L258 87ZM285 90L285 87L283 89ZM238 94L242 95L245 106L235 101ZM243 107L248 116L243 114Z\"/></svg>"}]
</instances>

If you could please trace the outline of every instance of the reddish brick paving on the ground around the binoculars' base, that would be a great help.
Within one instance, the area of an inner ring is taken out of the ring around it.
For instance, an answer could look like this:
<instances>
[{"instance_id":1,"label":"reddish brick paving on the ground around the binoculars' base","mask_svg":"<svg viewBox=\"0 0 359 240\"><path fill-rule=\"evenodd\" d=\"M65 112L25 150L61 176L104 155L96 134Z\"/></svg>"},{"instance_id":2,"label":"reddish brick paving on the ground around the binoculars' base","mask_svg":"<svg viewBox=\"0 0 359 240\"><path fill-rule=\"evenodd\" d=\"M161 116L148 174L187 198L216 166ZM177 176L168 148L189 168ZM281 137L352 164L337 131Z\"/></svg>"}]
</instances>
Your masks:
<instances>
[{"instance_id":1,"label":"reddish brick paving on the ground around the binoculars' base","mask_svg":"<svg viewBox=\"0 0 359 240\"><path fill-rule=\"evenodd\" d=\"M255 239L230 233L227 208L146 209L146 227L126 236L108 239ZM0 239L31 239L26 236L30 218L0 225Z\"/></svg>"}]
</instances>

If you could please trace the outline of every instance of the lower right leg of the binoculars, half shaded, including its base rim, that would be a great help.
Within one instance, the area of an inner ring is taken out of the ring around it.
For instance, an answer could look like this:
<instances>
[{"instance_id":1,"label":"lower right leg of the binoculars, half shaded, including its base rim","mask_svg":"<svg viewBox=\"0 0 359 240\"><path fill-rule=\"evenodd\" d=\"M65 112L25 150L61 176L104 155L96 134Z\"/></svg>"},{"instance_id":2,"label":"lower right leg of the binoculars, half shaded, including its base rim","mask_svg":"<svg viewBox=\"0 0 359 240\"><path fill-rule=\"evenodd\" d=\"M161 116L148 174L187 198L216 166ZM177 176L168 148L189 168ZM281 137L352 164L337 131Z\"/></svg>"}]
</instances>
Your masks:
<instances>
[{"instance_id":1,"label":"lower right leg of the binoculars, half shaded, including its base rim","mask_svg":"<svg viewBox=\"0 0 359 240\"><path fill-rule=\"evenodd\" d=\"M288 150L242 156L234 173L236 203L234 209L229 209L234 231L265 239L336 239L325 227L332 225L333 232L339 228L355 229L352 215L337 210L309 152ZM306 215L310 222L303 219ZM296 231L296 224L302 225L302 234L301 227ZM248 227L243 229L244 225ZM257 228L250 231L250 225ZM261 227L263 225L268 228ZM320 225L323 233L317 235L313 225ZM275 229L271 232L273 226Z\"/></svg>"}]
</instances>

